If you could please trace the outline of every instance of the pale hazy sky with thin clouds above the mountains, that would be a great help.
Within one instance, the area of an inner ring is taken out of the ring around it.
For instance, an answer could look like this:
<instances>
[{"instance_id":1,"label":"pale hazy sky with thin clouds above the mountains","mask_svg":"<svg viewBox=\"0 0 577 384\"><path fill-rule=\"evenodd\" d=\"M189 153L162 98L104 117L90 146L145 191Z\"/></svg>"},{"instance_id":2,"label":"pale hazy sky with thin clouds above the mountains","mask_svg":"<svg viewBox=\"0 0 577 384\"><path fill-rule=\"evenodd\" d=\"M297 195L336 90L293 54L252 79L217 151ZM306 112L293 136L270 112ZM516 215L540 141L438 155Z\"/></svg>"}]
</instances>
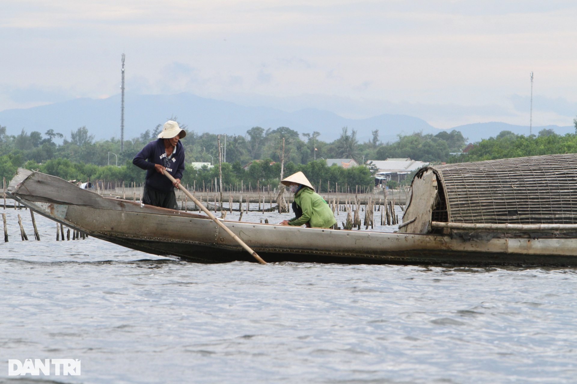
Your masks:
<instances>
[{"instance_id":1,"label":"pale hazy sky with thin clouds above the mountains","mask_svg":"<svg viewBox=\"0 0 577 384\"><path fill-rule=\"evenodd\" d=\"M573 1L0 2L0 110L119 92L191 92L439 128L571 125ZM0 121L0 123L2 123Z\"/></svg>"}]
</instances>

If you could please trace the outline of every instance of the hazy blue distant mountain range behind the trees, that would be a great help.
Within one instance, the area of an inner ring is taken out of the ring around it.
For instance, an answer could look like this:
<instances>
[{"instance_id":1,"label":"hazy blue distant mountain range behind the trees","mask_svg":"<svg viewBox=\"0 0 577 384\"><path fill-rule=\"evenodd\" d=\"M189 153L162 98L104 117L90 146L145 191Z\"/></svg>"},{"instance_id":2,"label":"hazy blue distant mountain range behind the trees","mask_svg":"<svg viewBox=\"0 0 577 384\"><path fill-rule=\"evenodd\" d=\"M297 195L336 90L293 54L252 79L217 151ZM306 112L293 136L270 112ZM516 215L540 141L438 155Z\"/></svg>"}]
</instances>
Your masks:
<instances>
[{"instance_id":1,"label":"hazy blue distant mountain range behind the trees","mask_svg":"<svg viewBox=\"0 0 577 384\"><path fill-rule=\"evenodd\" d=\"M246 130L259 126L265 129L289 127L300 133L320 132L320 138L332 141L338 138L342 127L357 130L361 142L371 137L371 131L379 130L383 142L394 141L399 134L422 131L437 134L441 130L418 117L407 115L379 115L368 119L346 119L336 113L308 108L295 112L268 107L245 107L233 102L194 96L190 93L173 95L137 95L125 97L125 138L133 138L169 117L188 125L189 130L219 134L244 135ZM53 129L65 136L70 131L86 126L96 139L120 136L120 96L104 99L76 98L27 109L7 109L0 112L0 125L6 126L8 134L17 135L24 128L27 132L42 133ZM572 126L533 127L537 134L550 128L559 134L574 132ZM491 122L467 124L450 128L459 130L470 142L495 136L503 130L516 134L528 134L529 127Z\"/></svg>"}]
</instances>

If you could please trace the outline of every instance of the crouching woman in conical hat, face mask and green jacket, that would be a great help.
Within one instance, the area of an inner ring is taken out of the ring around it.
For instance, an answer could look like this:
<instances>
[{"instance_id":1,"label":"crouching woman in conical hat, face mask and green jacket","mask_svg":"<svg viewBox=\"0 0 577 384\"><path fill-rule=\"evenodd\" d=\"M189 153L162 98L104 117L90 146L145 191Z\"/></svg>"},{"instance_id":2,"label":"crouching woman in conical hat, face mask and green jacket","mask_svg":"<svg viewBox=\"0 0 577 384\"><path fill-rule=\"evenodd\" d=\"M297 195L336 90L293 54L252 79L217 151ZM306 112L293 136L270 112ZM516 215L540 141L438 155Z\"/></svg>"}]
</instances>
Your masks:
<instances>
[{"instance_id":1,"label":"crouching woman in conical hat, face mask and green jacket","mask_svg":"<svg viewBox=\"0 0 577 384\"><path fill-rule=\"evenodd\" d=\"M313 186L302 172L297 172L280 181L294 193L293 212L295 217L283 220L281 225L302 226L315 228L331 228L335 225L335 215L327 201L318 193L314 193Z\"/></svg>"}]
</instances>

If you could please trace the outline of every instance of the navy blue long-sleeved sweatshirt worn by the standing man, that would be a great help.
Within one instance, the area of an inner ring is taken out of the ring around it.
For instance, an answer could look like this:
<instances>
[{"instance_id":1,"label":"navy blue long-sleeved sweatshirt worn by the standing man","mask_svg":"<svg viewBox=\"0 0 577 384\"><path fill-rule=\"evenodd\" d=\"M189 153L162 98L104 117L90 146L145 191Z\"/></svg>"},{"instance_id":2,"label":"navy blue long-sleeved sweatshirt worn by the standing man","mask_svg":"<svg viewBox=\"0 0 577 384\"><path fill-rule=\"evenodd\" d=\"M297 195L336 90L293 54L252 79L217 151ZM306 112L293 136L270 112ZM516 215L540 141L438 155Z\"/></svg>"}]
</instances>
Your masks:
<instances>
[{"instance_id":1,"label":"navy blue long-sleeved sweatshirt worn by the standing man","mask_svg":"<svg viewBox=\"0 0 577 384\"><path fill-rule=\"evenodd\" d=\"M168 177L164 176L164 174L158 173L154 169L155 164L164 166L162 161L164 157L166 157L164 139L158 139L145 145L144 148L134 156L132 164L147 171L145 182L147 188L167 193L174 191L173 183L168 180ZM174 178L182 178L182 172L184 171L184 147L180 140L178 140L175 153L170 159L170 164L172 164L172 166L166 167L168 173Z\"/></svg>"}]
</instances>

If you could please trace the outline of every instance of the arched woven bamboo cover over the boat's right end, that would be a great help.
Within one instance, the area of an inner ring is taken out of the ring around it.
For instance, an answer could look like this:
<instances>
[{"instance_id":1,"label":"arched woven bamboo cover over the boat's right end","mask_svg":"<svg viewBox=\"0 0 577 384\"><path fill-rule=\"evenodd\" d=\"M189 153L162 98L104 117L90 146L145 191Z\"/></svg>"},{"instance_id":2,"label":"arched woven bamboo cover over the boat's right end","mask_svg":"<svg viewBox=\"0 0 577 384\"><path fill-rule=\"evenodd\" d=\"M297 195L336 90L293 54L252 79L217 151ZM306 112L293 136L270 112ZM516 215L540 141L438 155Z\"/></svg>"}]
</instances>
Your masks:
<instances>
[{"instance_id":1,"label":"arched woven bamboo cover over the boat's right end","mask_svg":"<svg viewBox=\"0 0 577 384\"><path fill-rule=\"evenodd\" d=\"M449 222L577 223L577 154L428 168L443 184Z\"/></svg>"}]
</instances>

